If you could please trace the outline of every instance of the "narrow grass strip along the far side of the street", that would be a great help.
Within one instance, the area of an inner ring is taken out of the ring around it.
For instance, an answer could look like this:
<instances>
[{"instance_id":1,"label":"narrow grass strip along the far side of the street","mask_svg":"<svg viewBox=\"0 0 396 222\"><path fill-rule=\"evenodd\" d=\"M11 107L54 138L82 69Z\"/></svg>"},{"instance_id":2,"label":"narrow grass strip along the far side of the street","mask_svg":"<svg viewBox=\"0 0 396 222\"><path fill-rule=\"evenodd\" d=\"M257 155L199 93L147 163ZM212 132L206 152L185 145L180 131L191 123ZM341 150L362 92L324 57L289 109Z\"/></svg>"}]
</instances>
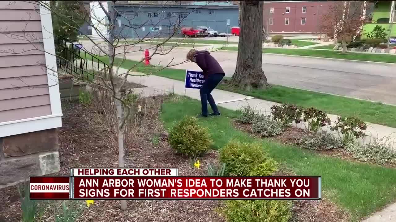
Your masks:
<instances>
[{"instance_id":1,"label":"narrow grass strip along the far side of the street","mask_svg":"<svg viewBox=\"0 0 396 222\"><path fill-rule=\"evenodd\" d=\"M228 48L223 47L219 49L238 51L238 47L228 47ZM366 54L366 53L351 53L351 52L342 54L340 51L329 51L329 50L265 48L263 49L263 53L396 63L396 56L394 55L372 55L368 53Z\"/></svg>"}]
</instances>

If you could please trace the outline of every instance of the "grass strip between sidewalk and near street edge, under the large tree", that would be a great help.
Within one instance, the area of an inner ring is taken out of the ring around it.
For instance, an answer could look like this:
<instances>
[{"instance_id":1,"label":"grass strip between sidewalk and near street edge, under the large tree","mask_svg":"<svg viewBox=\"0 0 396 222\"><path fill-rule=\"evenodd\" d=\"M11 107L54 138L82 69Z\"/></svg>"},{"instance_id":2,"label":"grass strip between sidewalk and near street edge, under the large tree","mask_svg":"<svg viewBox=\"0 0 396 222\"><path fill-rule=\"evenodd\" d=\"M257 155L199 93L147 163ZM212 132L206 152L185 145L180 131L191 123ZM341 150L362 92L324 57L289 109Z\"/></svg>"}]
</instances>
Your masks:
<instances>
[{"instance_id":1,"label":"grass strip between sidewalk and near street edge, under the large tree","mask_svg":"<svg viewBox=\"0 0 396 222\"><path fill-rule=\"evenodd\" d=\"M88 59L91 59L88 57ZM100 57L103 62L108 62L108 58ZM121 58L115 59L116 64L119 64ZM160 70L160 67L153 68L152 66L144 66L143 64L136 65L137 62L133 60L126 60L122 64L122 68L133 68L133 71L142 73L152 73L170 79L179 81L185 80L185 70L166 68ZM377 123L385 126L396 127L396 106L386 105L382 103L374 103L364 100L357 100L353 98L346 98L343 96L335 96L320 92L312 92L308 90L300 90L295 88L283 87L273 85L267 90L252 90L243 91L236 88L230 88L224 85L219 85L217 88L237 92L240 94L253 96L263 100L279 103L294 103L303 107L316 107L334 115L341 115L345 117L357 116L367 122Z\"/></svg>"}]
</instances>

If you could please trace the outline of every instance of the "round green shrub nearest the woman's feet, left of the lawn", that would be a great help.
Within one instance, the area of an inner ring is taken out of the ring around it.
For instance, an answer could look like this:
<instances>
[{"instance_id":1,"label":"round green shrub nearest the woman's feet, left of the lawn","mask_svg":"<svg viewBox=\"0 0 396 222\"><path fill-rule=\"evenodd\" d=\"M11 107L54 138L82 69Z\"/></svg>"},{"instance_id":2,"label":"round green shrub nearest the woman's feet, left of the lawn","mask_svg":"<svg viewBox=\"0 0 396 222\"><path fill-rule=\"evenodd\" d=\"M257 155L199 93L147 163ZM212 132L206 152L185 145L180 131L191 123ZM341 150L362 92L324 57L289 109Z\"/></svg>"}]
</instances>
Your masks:
<instances>
[{"instance_id":1,"label":"round green shrub nearest the woman's feet, left of the lawn","mask_svg":"<svg viewBox=\"0 0 396 222\"><path fill-rule=\"evenodd\" d=\"M208 151L212 141L196 117L185 117L169 131L169 143L177 153L197 156Z\"/></svg>"}]
</instances>

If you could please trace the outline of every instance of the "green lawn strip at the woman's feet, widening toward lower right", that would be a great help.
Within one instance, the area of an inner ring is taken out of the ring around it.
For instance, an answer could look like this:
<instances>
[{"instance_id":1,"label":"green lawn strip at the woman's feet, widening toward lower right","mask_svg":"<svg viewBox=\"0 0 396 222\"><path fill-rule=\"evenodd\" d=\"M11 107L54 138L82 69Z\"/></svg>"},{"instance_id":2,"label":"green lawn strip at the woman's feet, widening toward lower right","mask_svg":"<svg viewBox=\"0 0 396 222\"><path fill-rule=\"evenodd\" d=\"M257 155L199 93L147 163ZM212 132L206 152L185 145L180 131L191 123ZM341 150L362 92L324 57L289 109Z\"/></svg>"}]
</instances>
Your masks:
<instances>
[{"instance_id":1,"label":"green lawn strip at the woman's feet, widening toward lower right","mask_svg":"<svg viewBox=\"0 0 396 222\"><path fill-rule=\"evenodd\" d=\"M220 117L200 119L200 124L209 128L214 141L213 149L219 149L234 138L240 141L254 140L230 124L236 115L235 111L221 107L220 111ZM200 102L175 98L163 104L161 119L165 128L169 128L183 116L197 113L200 113ZM348 210L353 221L368 216L395 200L395 169L325 157L267 139L262 139L261 142L270 156L297 175L322 176L324 196Z\"/></svg>"}]
</instances>

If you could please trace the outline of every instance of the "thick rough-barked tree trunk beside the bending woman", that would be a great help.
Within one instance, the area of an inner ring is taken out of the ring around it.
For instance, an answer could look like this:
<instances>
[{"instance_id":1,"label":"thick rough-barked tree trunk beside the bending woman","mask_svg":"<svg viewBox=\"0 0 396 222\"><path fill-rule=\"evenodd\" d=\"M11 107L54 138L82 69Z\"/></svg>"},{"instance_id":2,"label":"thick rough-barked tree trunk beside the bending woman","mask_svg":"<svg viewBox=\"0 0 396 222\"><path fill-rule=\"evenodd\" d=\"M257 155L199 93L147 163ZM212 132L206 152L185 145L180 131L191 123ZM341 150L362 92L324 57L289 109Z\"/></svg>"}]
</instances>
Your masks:
<instances>
[{"instance_id":1,"label":"thick rough-barked tree trunk beside the bending woman","mask_svg":"<svg viewBox=\"0 0 396 222\"><path fill-rule=\"evenodd\" d=\"M246 90L267 88L262 68L263 1L241 1L241 25L236 70L230 85Z\"/></svg>"}]
</instances>

